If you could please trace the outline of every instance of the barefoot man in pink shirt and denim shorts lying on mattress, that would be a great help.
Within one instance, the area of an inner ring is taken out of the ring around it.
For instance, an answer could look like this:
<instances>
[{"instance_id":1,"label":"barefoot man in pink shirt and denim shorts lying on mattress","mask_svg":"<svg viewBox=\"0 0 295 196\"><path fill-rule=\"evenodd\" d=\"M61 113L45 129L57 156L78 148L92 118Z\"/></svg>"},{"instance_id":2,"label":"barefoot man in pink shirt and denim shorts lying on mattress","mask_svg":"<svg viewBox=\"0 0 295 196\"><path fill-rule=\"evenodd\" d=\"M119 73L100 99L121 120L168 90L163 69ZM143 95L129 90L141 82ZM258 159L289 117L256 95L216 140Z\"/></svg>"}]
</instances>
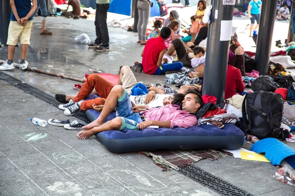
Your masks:
<instances>
[{"instance_id":1,"label":"barefoot man in pink shirt and denim shorts lying on mattress","mask_svg":"<svg viewBox=\"0 0 295 196\"><path fill-rule=\"evenodd\" d=\"M143 110L131 102L128 93L122 86L116 85L106 99L99 117L82 127L86 130L79 132L77 136L79 139L87 139L102 131L119 130L125 132L129 129L145 129L151 125L167 128L188 128L197 124L198 120L195 114L202 107L202 104L203 99L199 93L188 91L182 100L182 110L174 104L152 109L147 108L144 109L141 117L138 112ZM115 108L117 109L117 117L105 123L106 118Z\"/></svg>"}]
</instances>

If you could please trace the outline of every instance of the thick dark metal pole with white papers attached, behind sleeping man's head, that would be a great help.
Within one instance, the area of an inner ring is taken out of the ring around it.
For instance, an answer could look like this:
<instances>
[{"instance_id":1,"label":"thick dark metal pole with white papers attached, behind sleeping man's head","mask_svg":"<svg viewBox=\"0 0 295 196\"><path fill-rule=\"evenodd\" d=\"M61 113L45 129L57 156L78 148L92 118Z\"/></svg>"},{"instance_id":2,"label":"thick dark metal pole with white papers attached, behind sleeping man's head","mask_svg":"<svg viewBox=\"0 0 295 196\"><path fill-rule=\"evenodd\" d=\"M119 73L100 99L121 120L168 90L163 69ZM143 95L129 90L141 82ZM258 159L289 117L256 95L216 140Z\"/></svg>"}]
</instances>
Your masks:
<instances>
[{"instance_id":1,"label":"thick dark metal pole with white papers attached, behind sleeping man's head","mask_svg":"<svg viewBox=\"0 0 295 196\"><path fill-rule=\"evenodd\" d=\"M203 95L215 96L217 104L220 104L221 107L224 102L234 12L234 5L224 5L223 1L211 0L211 24L208 27L206 66L203 81Z\"/></svg>"}]
</instances>

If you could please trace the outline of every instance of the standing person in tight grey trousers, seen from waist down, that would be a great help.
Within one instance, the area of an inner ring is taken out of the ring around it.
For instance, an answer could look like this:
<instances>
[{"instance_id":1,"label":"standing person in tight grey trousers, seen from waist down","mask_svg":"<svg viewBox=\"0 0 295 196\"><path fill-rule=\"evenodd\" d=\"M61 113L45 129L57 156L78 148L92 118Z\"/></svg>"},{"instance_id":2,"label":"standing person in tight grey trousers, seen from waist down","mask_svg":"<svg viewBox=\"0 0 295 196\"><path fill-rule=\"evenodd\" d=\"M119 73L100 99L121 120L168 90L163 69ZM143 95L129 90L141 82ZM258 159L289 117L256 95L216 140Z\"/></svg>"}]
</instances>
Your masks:
<instances>
[{"instance_id":1,"label":"standing person in tight grey trousers, seen from waist down","mask_svg":"<svg viewBox=\"0 0 295 196\"><path fill-rule=\"evenodd\" d=\"M138 9L138 23L137 23L137 33L138 41L141 45L146 45L147 43L147 27L148 27L148 18L151 7L150 0L138 0L137 9Z\"/></svg>"}]
</instances>

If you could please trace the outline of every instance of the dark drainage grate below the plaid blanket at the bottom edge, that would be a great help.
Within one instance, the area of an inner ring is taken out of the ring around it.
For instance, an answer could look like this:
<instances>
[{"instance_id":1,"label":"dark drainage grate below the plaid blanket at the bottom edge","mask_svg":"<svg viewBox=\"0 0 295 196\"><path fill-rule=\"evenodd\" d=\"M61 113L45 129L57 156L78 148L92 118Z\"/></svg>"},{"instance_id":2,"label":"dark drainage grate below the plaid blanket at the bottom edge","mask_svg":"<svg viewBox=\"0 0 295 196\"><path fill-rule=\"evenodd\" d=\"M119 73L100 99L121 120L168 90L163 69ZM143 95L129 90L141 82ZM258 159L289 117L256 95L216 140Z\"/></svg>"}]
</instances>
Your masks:
<instances>
[{"instance_id":1,"label":"dark drainage grate below the plaid blanket at the bottom edge","mask_svg":"<svg viewBox=\"0 0 295 196\"><path fill-rule=\"evenodd\" d=\"M178 172L211 189L221 196L253 196L252 194L247 193L231 183L226 182L194 165L180 169Z\"/></svg>"}]
</instances>

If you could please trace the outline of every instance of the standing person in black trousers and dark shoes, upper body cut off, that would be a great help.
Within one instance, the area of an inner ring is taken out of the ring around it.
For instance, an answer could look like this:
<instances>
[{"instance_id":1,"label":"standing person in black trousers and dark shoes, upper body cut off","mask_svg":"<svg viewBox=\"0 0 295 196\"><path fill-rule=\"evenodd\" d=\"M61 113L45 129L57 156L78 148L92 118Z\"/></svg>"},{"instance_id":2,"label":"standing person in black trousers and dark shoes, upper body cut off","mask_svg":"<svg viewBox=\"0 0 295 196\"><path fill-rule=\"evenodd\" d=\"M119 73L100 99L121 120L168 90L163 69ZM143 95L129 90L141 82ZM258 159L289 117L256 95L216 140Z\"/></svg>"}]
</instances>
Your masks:
<instances>
[{"instance_id":1,"label":"standing person in black trousers and dark shoes, upper body cut off","mask_svg":"<svg viewBox=\"0 0 295 196\"><path fill-rule=\"evenodd\" d=\"M110 0L96 0L95 13L95 32L96 39L89 48L95 48L95 51L110 51L110 37L107 25L107 15L110 8Z\"/></svg>"}]
</instances>

